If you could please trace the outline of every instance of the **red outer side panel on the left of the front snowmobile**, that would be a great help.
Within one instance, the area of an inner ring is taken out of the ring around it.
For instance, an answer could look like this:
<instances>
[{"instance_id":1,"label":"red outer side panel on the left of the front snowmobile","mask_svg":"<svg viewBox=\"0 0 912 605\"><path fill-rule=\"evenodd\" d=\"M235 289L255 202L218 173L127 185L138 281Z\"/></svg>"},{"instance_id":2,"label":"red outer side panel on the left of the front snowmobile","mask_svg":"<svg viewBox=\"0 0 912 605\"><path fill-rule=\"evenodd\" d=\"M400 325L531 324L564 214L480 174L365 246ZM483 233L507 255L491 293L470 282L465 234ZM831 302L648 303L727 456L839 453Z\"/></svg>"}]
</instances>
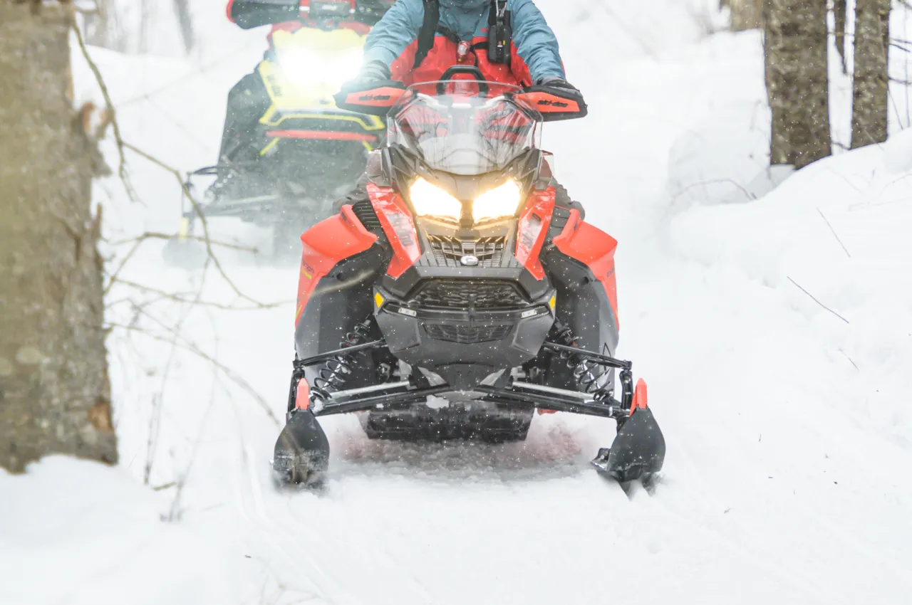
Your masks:
<instances>
[{"instance_id":1,"label":"red outer side panel on the left of the front snowmobile","mask_svg":"<svg viewBox=\"0 0 912 605\"><path fill-rule=\"evenodd\" d=\"M321 220L301 236L304 252L301 256L301 275L297 284L297 313L295 325L304 313L307 300L317 282L330 272L339 261L368 250L377 236L364 228L350 205L326 220Z\"/></svg>"}]
</instances>

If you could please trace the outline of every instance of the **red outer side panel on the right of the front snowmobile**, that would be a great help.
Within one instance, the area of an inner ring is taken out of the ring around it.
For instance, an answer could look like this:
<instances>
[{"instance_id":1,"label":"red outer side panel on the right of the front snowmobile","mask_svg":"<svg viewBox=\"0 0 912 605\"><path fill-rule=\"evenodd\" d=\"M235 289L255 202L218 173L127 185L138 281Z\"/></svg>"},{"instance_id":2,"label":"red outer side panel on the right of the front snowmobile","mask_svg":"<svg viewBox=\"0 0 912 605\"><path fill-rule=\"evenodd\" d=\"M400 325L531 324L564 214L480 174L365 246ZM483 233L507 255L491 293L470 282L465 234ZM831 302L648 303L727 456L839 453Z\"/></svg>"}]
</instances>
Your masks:
<instances>
[{"instance_id":1,"label":"red outer side panel on the right of the front snowmobile","mask_svg":"<svg viewBox=\"0 0 912 605\"><path fill-rule=\"evenodd\" d=\"M579 218L579 210L571 210L564 231L554 238L557 250L589 267L599 282L605 286L608 302L617 315L617 278L615 275L615 251L617 240L605 231L593 227Z\"/></svg>"}]
</instances>

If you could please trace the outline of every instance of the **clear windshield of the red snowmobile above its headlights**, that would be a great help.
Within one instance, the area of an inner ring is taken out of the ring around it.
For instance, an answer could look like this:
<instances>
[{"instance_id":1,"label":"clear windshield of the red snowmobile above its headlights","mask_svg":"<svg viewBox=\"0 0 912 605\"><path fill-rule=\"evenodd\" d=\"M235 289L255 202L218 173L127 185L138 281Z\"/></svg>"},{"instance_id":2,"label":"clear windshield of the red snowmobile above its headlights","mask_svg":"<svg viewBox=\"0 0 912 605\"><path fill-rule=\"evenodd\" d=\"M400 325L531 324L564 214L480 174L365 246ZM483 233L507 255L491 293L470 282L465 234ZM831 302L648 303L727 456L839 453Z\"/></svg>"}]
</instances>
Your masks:
<instances>
[{"instance_id":1,"label":"clear windshield of the red snowmobile above its headlights","mask_svg":"<svg viewBox=\"0 0 912 605\"><path fill-rule=\"evenodd\" d=\"M470 176L506 168L541 144L542 116L523 89L496 82L418 84L389 112L390 147L428 168Z\"/></svg>"}]
</instances>

